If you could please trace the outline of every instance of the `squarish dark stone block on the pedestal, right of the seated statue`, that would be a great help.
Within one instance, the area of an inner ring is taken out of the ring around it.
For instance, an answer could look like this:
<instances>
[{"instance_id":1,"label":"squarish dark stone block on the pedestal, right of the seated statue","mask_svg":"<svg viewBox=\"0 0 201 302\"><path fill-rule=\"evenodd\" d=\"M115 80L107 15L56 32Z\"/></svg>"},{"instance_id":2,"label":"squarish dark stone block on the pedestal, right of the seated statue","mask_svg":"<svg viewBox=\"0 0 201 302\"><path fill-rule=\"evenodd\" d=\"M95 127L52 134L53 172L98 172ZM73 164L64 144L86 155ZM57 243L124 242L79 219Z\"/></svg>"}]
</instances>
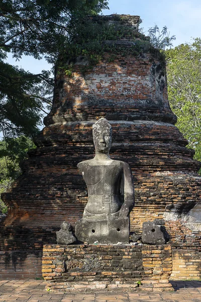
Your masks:
<instances>
[{"instance_id":1,"label":"squarish dark stone block on the pedestal, right of the seated statue","mask_svg":"<svg viewBox=\"0 0 201 302\"><path fill-rule=\"evenodd\" d=\"M146 244L166 244L169 234L164 225L157 225L152 221L143 222L142 242Z\"/></svg>"}]
</instances>

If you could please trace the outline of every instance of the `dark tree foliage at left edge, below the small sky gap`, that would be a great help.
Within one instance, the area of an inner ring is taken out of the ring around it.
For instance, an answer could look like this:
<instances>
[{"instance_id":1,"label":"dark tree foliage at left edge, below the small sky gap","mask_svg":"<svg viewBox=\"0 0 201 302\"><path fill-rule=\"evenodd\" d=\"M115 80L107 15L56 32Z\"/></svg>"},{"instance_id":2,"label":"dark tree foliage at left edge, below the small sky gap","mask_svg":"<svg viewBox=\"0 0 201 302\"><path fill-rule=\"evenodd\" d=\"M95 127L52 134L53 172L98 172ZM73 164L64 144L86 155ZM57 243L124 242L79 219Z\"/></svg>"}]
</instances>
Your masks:
<instances>
[{"instance_id":1,"label":"dark tree foliage at left edge, below the small sky gap","mask_svg":"<svg viewBox=\"0 0 201 302\"><path fill-rule=\"evenodd\" d=\"M4 137L35 135L45 104L51 105L49 72L33 75L0 60L0 132Z\"/></svg>"}]
</instances>

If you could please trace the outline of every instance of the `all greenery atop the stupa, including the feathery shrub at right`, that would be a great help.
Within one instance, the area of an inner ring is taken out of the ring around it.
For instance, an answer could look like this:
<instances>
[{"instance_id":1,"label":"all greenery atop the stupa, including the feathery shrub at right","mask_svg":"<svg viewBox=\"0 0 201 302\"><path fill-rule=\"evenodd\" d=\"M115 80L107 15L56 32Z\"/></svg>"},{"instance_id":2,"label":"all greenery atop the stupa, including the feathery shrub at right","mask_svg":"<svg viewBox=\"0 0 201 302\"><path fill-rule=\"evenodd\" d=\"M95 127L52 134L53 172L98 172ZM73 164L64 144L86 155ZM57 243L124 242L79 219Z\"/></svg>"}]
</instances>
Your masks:
<instances>
[{"instance_id":1,"label":"all greenery atop the stupa, including the feathery shrub at right","mask_svg":"<svg viewBox=\"0 0 201 302\"><path fill-rule=\"evenodd\" d=\"M63 68L62 64L68 61L68 58L76 58L78 56L85 57L88 63L82 67L84 73L91 69L95 64L102 60L103 55L111 53L108 58L109 62L113 62L115 58L121 55L138 56L146 52L153 54L154 58L158 58L165 67L164 49L172 46L175 36L169 37L167 27L164 26L161 33L157 26L149 29L149 36L146 37L140 31L133 29L132 20L128 16L113 16L114 21L108 22L107 18L80 19L74 24L71 30L71 39L66 43L65 51L59 59L59 68ZM117 21L117 22L116 22ZM141 20L139 21L139 23ZM133 42L130 47L115 44L115 41L122 38L129 39ZM65 64L65 63L64 63ZM66 67L65 72L69 77L73 76L73 64ZM70 70L70 71L69 71Z\"/></svg>"}]
</instances>

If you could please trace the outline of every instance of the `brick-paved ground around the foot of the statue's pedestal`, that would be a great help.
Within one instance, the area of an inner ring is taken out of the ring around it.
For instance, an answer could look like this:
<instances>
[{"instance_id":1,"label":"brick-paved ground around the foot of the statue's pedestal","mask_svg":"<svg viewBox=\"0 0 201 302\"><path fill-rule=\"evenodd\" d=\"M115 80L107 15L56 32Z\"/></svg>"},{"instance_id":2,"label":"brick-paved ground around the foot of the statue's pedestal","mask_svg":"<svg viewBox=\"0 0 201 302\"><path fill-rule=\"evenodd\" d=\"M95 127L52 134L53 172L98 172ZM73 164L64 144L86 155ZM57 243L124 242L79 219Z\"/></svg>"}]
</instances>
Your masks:
<instances>
[{"instance_id":1,"label":"brick-paved ground around the foot of the statue's pedestal","mask_svg":"<svg viewBox=\"0 0 201 302\"><path fill-rule=\"evenodd\" d=\"M43 280L0 281L0 302L201 302L201 281L171 281L174 292L53 293Z\"/></svg>"}]
</instances>

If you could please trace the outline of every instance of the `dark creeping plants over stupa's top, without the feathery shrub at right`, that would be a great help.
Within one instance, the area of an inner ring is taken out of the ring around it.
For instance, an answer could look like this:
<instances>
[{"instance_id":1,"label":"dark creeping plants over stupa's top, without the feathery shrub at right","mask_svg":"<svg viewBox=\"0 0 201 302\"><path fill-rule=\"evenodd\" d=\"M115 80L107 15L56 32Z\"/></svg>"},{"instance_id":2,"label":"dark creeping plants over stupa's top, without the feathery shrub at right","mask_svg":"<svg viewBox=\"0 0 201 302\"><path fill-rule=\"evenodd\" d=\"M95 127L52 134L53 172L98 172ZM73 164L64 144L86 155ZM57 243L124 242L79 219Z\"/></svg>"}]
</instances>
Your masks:
<instances>
[{"instance_id":1,"label":"dark creeping plants over stupa's top, without the feathery shrub at right","mask_svg":"<svg viewBox=\"0 0 201 302\"><path fill-rule=\"evenodd\" d=\"M86 59L87 64L81 68L84 73L102 60L106 52L111 53L109 62L113 62L120 53L139 55L152 47L147 37L133 29L130 17L117 15L113 16L113 21L115 22L108 22L108 18L104 17L94 17L93 20L80 18L70 32L71 39L66 43L65 51L59 57L58 67L64 68L65 62L71 58L65 73L72 77L73 58ZM115 41L123 37L128 38L133 45L131 47L116 45Z\"/></svg>"}]
</instances>

